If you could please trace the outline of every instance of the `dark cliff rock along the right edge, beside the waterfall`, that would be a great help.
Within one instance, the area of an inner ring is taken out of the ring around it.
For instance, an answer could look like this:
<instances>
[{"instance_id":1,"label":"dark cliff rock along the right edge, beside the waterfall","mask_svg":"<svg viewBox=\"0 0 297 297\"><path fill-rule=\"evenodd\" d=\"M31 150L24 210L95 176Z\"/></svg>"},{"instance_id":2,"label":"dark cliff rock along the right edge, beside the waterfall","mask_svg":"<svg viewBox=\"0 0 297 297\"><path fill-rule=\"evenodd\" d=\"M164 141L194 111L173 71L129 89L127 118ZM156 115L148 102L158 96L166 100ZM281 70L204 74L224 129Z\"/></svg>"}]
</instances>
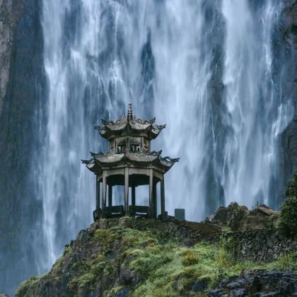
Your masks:
<instances>
[{"instance_id":1,"label":"dark cliff rock along the right edge, beside the waterfall","mask_svg":"<svg viewBox=\"0 0 297 297\"><path fill-rule=\"evenodd\" d=\"M293 173L297 172L297 3L294 0L283 1L284 8L279 16L279 25L274 35L274 52L277 67L282 67L281 97L291 98L293 120L286 128L281 139L281 179L284 187ZM280 74L279 74L280 76ZM279 197L280 201L284 197Z\"/></svg>"}]
</instances>

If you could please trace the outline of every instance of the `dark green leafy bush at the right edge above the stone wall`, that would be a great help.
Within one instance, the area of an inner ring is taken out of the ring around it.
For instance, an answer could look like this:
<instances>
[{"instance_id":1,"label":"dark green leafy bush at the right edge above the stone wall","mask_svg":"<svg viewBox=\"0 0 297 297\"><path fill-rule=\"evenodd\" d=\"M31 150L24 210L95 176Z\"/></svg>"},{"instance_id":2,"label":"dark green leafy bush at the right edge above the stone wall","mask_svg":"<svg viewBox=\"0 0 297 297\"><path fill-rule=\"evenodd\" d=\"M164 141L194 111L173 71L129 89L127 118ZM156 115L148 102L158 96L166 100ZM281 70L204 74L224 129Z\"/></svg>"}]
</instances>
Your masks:
<instances>
[{"instance_id":1,"label":"dark green leafy bush at the right edge above the stone wall","mask_svg":"<svg viewBox=\"0 0 297 297\"><path fill-rule=\"evenodd\" d=\"M279 227L287 237L297 238L297 173L293 175L286 189Z\"/></svg>"}]
</instances>

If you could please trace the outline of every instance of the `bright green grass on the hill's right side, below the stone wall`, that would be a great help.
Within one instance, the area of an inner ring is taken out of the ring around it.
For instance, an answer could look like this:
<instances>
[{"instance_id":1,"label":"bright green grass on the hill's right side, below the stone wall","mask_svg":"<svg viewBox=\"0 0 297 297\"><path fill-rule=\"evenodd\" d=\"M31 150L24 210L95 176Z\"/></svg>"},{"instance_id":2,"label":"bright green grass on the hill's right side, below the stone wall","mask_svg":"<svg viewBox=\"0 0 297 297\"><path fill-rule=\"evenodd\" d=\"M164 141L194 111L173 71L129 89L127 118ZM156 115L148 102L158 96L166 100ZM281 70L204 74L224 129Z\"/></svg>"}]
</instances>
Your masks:
<instances>
[{"instance_id":1,"label":"bright green grass on the hill's right side, below the stone wall","mask_svg":"<svg viewBox=\"0 0 297 297\"><path fill-rule=\"evenodd\" d=\"M145 269L142 265L146 263L146 267L153 269L149 269L144 283L133 291L132 296L189 294L197 282L203 283L205 289L211 288L225 277L240 274L243 269L284 269L296 272L297 253L288 254L272 263L256 264L238 261L233 256L233 251L226 250L226 246L226 242L222 240L217 244L199 243L193 248L173 245L167 251L160 247L161 258L157 260L156 253L151 252L152 248L138 251L138 257L131 268L143 274ZM193 296L197 296L197 293L193 292Z\"/></svg>"}]
</instances>

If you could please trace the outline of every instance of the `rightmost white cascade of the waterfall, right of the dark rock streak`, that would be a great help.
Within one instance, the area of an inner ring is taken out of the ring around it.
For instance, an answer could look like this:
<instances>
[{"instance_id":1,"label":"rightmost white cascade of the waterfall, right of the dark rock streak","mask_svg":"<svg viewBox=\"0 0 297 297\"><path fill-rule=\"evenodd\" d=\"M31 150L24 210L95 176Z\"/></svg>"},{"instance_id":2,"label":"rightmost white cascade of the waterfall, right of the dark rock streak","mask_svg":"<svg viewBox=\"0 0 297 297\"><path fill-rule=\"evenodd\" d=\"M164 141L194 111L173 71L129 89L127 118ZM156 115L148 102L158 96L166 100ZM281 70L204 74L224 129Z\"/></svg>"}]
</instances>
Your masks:
<instances>
[{"instance_id":1,"label":"rightmost white cascade of the waterfall, right of the dark rock streak","mask_svg":"<svg viewBox=\"0 0 297 297\"><path fill-rule=\"evenodd\" d=\"M279 4L250 11L248 1L224 0L226 19L223 84L228 127L221 168L226 204L274 203L278 179L277 140L293 108L282 103L272 78L272 26ZM277 207L277 206L276 206Z\"/></svg>"}]
</instances>

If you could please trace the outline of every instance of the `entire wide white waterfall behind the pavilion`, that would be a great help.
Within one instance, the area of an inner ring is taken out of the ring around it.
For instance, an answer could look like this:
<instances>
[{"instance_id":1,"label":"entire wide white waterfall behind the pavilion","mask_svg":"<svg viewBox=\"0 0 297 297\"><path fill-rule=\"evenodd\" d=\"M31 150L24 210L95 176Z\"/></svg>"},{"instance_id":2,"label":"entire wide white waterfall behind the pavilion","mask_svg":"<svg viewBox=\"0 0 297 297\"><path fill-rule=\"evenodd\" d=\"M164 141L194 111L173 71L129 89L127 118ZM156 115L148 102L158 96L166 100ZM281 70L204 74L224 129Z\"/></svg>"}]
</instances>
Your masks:
<instances>
[{"instance_id":1,"label":"entire wide white waterfall behind the pavilion","mask_svg":"<svg viewBox=\"0 0 297 297\"><path fill-rule=\"evenodd\" d=\"M153 148L180 157L165 180L170 214L182 207L199 221L231 201L272 203L291 117L272 80L278 11L269 1L44 1L41 270L91 223L95 178L80 160L107 148L93 124L129 101L135 115L168 125Z\"/></svg>"}]
</instances>

